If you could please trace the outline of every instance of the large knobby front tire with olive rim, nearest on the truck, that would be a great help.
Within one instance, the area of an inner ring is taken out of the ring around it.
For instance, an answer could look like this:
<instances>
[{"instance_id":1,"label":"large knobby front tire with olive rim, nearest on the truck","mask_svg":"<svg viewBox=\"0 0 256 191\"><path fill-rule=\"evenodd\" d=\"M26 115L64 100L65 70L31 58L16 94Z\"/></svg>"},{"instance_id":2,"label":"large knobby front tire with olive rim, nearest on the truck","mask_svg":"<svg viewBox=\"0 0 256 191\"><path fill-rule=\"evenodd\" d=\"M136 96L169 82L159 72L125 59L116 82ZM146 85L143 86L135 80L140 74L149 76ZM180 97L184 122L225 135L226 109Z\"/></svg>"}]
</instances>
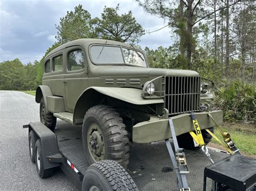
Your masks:
<instances>
[{"instance_id":1,"label":"large knobby front tire with olive rim, nearest on the truck","mask_svg":"<svg viewBox=\"0 0 256 191\"><path fill-rule=\"evenodd\" d=\"M123 119L115 109L107 105L90 108L84 116L82 136L89 165L108 159L127 167L129 139Z\"/></svg>"}]
</instances>

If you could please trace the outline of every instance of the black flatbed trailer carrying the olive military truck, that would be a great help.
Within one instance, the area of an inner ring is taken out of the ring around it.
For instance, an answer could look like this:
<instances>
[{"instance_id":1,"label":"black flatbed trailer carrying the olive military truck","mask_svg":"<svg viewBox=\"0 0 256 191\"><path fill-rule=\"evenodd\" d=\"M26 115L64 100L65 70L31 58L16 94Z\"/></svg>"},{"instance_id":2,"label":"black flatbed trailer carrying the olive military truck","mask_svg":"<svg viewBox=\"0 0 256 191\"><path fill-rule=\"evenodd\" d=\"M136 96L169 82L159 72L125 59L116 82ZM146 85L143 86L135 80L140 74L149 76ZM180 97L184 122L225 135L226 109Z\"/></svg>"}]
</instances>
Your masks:
<instances>
[{"instance_id":1,"label":"black flatbed trailer carrying the olive military truck","mask_svg":"<svg viewBox=\"0 0 256 191\"><path fill-rule=\"evenodd\" d=\"M41 130L38 130L37 125L41 126ZM45 132L49 133L49 129L40 122L24 125L23 128L35 131L39 137ZM83 151L82 128L73 128L68 123L58 121L52 135L56 137L56 140L51 141L51 150L57 146L58 153L45 156L46 159L53 166L60 166L76 188L81 190L83 178L88 168ZM130 151L130 162L126 171L136 183L136 189L176 190L177 178L164 141L150 144L131 143ZM204 168L211 165L211 162L201 150L186 150L185 152L187 164L190 167L190 173L187 174L190 190L203 190ZM214 161L228 156L228 154L218 150L210 149L209 152ZM206 190L211 190L211 182L209 182L210 180L207 181Z\"/></svg>"}]
</instances>

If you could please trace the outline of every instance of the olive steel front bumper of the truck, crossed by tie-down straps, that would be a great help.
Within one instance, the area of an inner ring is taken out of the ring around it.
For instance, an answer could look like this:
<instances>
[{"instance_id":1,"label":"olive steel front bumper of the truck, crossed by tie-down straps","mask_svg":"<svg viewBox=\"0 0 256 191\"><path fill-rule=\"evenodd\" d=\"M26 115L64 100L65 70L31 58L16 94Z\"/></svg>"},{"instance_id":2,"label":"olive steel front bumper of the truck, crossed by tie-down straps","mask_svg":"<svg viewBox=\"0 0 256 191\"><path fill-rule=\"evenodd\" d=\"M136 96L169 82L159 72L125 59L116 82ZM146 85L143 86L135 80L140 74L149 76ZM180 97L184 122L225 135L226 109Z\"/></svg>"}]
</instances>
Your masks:
<instances>
[{"instance_id":1,"label":"olive steel front bumper of the truck, crossed by tie-down straps","mask_svg":"<svg viewBox=\"0 0 256 191\"><path fill-rule=\"evenodd\" d=\"M211 111L210 113L217 124L223 122L222 111ZM200 129L208 129L214 126L207 112L195 112L194 115L196 116ZM177 136L194 131L190 114L180 114L171 118ZM132 128L132 141L135 143L152 143L171 137L168 119L156 116L151 116L149 121L137 123Z\"/></svg>"}]
</instances>

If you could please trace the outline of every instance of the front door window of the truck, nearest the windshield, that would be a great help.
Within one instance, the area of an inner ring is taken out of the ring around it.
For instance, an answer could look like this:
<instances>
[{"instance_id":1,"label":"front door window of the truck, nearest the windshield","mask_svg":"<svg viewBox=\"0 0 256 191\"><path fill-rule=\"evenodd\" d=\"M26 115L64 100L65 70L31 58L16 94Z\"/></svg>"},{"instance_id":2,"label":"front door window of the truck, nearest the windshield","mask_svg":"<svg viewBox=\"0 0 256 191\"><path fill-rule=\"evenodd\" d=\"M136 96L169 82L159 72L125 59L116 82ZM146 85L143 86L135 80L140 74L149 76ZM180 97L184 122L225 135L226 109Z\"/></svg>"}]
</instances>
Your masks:
<instances>
[{"instance_id":1,"label":"front door window of the truck, nearest the windshield","mask_svg":"<svg viewBox=\"0 0 256 191\"><path fill-rule=\"evenodd\" d=\"M68 70L78 70L84 68L84 53L80 49L71 51L68 54Z\"/></svg>"}]
</instances>

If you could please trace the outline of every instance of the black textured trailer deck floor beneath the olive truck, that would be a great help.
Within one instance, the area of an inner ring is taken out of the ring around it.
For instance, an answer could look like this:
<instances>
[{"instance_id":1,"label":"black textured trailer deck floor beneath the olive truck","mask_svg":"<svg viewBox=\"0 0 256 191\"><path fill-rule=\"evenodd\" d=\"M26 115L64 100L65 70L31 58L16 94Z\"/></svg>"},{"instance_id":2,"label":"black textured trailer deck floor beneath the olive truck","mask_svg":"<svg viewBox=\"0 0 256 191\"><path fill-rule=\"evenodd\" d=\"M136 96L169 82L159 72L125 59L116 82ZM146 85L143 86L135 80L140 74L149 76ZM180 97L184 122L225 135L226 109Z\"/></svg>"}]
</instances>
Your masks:
<instances>
[{"instance_id":1,"label":"black textured trailer deck floor beneath the olive truck","mask_svg":"<svg viewBox=\"0 0 256 191\"><path fill-rule=\"evenodd\" d=\"M55 130L59 151L72 161L79 172L85 173L87 164L82 145L82 128L58 121ZM213 161L228 154L209 149ZM185 150L190 173L187 174L191 190L203 189L204 168L211 164L203 151ZM170 190L177 188L176 174L172 169L164 141L151 144L130 144L130 163L127 172L139 190ZM211 183L207 183L211 185Z\"/></svg>"}]
</instances>

